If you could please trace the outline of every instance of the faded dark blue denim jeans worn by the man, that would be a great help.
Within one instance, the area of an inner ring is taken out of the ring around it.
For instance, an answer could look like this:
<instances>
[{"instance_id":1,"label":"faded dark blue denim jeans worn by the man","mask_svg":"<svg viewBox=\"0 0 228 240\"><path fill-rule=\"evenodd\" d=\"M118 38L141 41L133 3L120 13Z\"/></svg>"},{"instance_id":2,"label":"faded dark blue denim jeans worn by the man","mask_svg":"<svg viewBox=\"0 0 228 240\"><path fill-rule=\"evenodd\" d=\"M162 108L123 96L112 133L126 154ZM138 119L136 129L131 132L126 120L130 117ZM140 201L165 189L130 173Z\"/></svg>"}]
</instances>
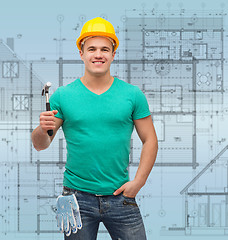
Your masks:
<instances>
[{"instance_id":1,"label":"faded dark blue denim jeans worn by the man","mask_svg":"<svg viewBox=\"0 0 228 240\"><path fill-rule=\"evenodd\" d=\"M96 240L100 222L103 222L113 240L146 240L135 198L123 194L96 196L73 191L79 204L82 229L69 237L65 235L65 240Z\"/></svg>"}]
</instances>

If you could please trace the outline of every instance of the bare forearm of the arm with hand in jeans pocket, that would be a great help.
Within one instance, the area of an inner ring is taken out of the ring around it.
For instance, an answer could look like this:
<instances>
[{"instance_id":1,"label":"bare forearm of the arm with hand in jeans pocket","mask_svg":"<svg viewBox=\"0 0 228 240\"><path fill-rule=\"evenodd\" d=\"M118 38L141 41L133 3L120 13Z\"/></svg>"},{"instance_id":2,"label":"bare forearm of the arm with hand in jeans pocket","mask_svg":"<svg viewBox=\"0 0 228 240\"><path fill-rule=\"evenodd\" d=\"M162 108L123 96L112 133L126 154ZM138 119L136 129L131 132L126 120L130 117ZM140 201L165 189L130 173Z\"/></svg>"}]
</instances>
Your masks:
<instances>
[{"instance_id":1,"label":"bare forearm of the arm with hand in jeans pocket","mask_svg":"<svg viewBox=\"0 0 228 240\"><path fill-rule=\"evenodd\" d=\"M142 187L154 166L158 151L157 140L146 141L143 144L140 163L135 175L135 181Z\"/></svg>"}]
</instances>

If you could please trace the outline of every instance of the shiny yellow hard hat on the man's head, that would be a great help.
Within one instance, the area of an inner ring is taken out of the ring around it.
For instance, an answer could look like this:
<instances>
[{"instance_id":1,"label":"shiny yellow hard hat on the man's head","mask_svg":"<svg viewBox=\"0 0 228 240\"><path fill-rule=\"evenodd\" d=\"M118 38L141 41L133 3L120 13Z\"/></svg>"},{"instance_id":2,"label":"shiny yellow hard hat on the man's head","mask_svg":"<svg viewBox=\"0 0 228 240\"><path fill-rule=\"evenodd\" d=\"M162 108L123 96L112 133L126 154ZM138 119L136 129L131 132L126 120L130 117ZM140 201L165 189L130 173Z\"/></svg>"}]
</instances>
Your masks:
<instances>
[{"instance_id":1,"label":"shiny yellow hard hat on the man's head","mask_svg":"<svg viewBox=\"0 0 228 240\"><path fill-rule=\"evenodd\" d=\"M81 43L83 39L93 36L111 38L114 41L114 51L116 51L119 46L119 40L116 37L114 27L110 22L103 18L93 18L84 24L81 30L81 34L76 42L78 49L81 50Z\"/></svg>"}]
</instances>

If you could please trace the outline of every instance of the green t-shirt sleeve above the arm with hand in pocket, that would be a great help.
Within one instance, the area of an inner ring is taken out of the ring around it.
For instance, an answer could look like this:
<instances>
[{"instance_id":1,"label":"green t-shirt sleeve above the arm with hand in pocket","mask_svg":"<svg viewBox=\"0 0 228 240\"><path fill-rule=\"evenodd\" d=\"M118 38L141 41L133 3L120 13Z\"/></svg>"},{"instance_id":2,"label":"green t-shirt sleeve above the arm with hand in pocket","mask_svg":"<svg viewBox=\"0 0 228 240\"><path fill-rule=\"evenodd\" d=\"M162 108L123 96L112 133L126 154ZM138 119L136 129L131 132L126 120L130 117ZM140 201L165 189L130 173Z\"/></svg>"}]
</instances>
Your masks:
<instances>
[{"instance_id":1,"label":"green t-shirt sleeve above the arm with hand in pocket","mask_svg":"<svg viewBox=\"0 0 228 240\"><path fill-rule=\"evenodd\" d=\"M135 88L135 106L132 114L133 120L148 117L150 109L144 93L138 86Z\"/></svg>"}]
</instances>

